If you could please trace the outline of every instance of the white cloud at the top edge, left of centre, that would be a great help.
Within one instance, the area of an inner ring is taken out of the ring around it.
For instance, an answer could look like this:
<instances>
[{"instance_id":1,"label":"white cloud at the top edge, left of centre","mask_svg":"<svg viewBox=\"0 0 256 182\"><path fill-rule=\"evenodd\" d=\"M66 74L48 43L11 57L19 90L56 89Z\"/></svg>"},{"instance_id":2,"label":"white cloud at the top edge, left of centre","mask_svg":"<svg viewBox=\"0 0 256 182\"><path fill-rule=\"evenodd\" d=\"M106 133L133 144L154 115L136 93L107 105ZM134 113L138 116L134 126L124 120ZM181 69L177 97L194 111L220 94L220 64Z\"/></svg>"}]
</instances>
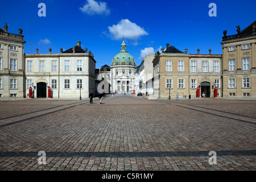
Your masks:
<instances>
[{"instance_id":1,"label":"white cloud at the top edge, left of centre","mask_svg":"<svg viewBox=\"0 0 256 182\"><path fill-rule=\"evenodd\" d=\"M87 0L83 7L79 8L82 13L87 13L89 15L94 14L110 14L110 10L108 9L108 5L105 2L97 2L94 0Z\"/></svg>"}]
</instances>

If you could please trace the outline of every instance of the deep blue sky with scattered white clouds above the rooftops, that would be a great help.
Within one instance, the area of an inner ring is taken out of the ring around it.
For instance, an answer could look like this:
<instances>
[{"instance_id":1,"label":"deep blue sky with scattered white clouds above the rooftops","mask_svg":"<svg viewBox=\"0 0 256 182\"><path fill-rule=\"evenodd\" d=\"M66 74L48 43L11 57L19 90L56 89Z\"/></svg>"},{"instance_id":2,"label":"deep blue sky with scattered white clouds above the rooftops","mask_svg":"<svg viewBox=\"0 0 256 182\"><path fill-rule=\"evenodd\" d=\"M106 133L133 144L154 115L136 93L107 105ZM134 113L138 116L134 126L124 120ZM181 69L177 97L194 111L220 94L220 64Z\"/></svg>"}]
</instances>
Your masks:
<instances>
[{"instance_id":1,"label":"deep blue sky with scattered white clouds above the rooftops","mask_svg":"<svg viewBox=\"0 0 256 182\"><path fill-rule=\"evenodd\" d=\"M46 16L38 16L39 3L46 5ZM215 3L217 16L209 16ZM25 53L59 53L80 41L92 51L96 68L110 65L120 51L125 36L127 51L141 64L147 53L166 48L166 43L188 53L221 54L223 31L236 34L256 20L256 1L117 1L117 0L24 0L3 1L0 27L8 32L23 29Z\"/></svg>"}]
</instances>

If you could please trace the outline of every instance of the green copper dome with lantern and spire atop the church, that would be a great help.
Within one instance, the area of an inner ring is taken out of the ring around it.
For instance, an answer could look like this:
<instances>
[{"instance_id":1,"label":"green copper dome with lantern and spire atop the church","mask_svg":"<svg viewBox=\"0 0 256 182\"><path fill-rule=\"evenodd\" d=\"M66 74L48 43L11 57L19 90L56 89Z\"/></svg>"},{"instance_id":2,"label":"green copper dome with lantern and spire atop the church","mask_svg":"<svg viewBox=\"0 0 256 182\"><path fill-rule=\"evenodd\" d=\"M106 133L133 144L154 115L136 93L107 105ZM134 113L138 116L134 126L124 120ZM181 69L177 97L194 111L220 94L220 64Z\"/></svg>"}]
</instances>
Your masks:
<instances>
[{"instance_id":1,"label":"green copper dome with lantern and spire atop the church","mask_svg":"<svg viewBox=\"0 0 256 182\"><path fill-rule=\"evenodd\" d=\"M121 44L121 51L117 55L115 55L111 65L131 65L136 67L136 63L133 56L131 56L130 53L126 51L126 44L124 40Z\"/></svg>"}]
</instances>

